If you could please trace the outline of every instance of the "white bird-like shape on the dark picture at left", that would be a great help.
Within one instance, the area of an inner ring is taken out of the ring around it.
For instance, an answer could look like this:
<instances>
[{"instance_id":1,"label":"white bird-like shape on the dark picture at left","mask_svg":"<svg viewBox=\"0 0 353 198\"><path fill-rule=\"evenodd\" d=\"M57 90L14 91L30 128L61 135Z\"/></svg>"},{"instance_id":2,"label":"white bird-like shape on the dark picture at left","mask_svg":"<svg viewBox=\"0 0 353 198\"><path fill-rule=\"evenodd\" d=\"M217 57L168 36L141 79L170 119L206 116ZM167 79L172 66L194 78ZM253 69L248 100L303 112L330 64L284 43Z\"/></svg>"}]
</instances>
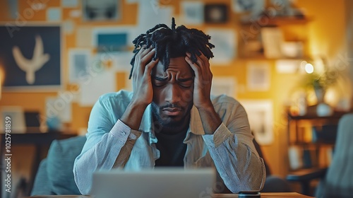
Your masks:
<instances>
[{"instance_id":1,"label":"white bird-like shape on the dark picture at left","mask_svg":"<svg viewBox=\"0 0 353 198\"><path fill-rule=\"evenodd\" d=\"M23 57L18 46L13 46L12 53L18 67L25 71L25 79L29 84L35 83L35 71L41 69L50 59L49 54L44 54L43 41L40 35L35 36L35 49L32 59Z\"/></svg>"}]
</instances>

